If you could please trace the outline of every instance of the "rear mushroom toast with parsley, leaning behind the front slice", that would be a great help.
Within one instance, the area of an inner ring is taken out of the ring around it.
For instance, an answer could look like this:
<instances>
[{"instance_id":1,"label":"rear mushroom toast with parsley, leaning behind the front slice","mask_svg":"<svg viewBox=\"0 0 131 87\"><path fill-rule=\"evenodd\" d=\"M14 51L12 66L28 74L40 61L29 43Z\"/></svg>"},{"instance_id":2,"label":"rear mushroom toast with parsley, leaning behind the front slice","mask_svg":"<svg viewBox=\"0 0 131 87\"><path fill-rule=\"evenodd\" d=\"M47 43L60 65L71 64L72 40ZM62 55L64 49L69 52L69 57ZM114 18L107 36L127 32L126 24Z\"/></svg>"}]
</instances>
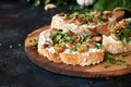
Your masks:
<instances>
[{"instance_id":1,"label":"rear mushroom toast with parsley, leaning behind the front slice","mask_svg":"<svg viewBox=\"0 0 131 87\"><path fill-rule=\"evenodd\" d=\"M102 34L100 27L114 21L120 21L124 16L124 11L93 11L88 14L56 14L51 20L51 28L68 28L79 35ZM100 18L99 18L100 17ZM107 28L107 27L106 27Z\"/></svg>"}]
</instances>

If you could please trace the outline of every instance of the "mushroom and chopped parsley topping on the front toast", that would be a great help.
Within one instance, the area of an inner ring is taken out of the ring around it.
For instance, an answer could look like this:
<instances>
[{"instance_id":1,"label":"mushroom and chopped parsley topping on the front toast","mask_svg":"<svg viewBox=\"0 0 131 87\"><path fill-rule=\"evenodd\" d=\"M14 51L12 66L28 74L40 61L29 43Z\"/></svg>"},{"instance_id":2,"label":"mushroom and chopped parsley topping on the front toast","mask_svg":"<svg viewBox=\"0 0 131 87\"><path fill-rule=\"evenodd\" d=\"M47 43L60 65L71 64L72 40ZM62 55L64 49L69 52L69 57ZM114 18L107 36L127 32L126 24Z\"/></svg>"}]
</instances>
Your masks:
<instances>
[{"instance_id":1,"label":"mushroom and chopped parsley topping on the front toast","mask_svg":"<svg viewBox=\"0 0 131 87\"><path fill-rule=\"evenodd\" d=\"M70 52L85 52L88 48L102 48L100 44L92 40L93 36L79 36L69 29L55 29L50 32L49 37L53 42L53 45L51 45L52 47L64 47L64 49L68 48Z\"/></svg>"}]
</instances>

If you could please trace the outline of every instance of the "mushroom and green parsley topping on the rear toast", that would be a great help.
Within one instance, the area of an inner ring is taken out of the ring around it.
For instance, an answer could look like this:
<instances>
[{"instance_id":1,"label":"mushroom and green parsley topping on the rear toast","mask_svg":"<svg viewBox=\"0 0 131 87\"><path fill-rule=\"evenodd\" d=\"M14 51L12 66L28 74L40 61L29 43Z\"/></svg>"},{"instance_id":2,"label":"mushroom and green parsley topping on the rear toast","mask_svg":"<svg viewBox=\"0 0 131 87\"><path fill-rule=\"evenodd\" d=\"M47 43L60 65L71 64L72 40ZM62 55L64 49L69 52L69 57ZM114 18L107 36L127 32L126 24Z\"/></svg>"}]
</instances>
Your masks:
<instances>
[{"instance_id":1,"label":"mushroom and green parsley topping on the rear toast","mask_svg":"<svg viewBox=\"0 0 131 87\"><path fill-rule=\"evenodd\" d=\"M80 24L87 24L88 25L88 23L90 24L95 23L97 25L100 25L105 21L107 22L108 17L109 17L109 15L105 15L106 17L104 18L103 15L105 15L105 14L100 10L94 10L94 11L92 11L92 10L90 10L90 11L75 10L71 14L66 14L66 16L63 15L63 17L69 20L69 22L73 22L76 24L80 23Z\"/></svg>"}]
</instances>

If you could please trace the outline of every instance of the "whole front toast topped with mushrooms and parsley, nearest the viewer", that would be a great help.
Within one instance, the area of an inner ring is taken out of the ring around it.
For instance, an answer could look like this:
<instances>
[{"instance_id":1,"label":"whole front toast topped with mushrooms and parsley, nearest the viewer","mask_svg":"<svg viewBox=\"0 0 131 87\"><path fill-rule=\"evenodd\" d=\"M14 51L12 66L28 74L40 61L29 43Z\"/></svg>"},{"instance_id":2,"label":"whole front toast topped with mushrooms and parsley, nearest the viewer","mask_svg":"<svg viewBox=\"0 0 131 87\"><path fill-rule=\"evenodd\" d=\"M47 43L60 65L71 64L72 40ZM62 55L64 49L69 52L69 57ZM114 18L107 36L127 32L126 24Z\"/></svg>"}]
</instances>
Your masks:
<instances>
[{"instance_id":1,"label":"whole front toast topped with mushrooms and parsley, nearest the viewer","mask_svg":"<svg viewBox=\"0 0 131 87\"><path fill-rule=\"evenodd\" d=\"M104 60L102 36L79 36L70 29L40 33L38 52L53 62L71 65L97 64Z\"/></svg>"}]
</instances>

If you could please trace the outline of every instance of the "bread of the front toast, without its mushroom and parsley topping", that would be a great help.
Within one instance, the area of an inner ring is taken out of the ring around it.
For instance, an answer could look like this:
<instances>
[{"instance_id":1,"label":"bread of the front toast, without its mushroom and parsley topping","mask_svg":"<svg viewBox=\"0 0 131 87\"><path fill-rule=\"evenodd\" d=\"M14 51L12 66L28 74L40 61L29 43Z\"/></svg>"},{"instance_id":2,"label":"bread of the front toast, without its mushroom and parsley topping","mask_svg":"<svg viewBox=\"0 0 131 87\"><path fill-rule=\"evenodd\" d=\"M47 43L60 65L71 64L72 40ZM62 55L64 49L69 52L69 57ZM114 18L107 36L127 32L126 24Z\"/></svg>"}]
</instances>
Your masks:
<instances>
[{"instance_id":1,"label":"bread of the front toast, without its mushroom and parsley topping","mask_svg":"<svg viewBox=\"0 0 131 87\"><path fill-rule=\"evenodd\" d=\"M66 49L63 52L57 52L52 47L44 48L45 44L52 44L49 38L51 29L40 33L38 41L38 52L53 62L63 62L71 65L91 65L97 64L104 60L104 49L90 48L86 52L70 52Z\"/></svg>"}]
</instances>

